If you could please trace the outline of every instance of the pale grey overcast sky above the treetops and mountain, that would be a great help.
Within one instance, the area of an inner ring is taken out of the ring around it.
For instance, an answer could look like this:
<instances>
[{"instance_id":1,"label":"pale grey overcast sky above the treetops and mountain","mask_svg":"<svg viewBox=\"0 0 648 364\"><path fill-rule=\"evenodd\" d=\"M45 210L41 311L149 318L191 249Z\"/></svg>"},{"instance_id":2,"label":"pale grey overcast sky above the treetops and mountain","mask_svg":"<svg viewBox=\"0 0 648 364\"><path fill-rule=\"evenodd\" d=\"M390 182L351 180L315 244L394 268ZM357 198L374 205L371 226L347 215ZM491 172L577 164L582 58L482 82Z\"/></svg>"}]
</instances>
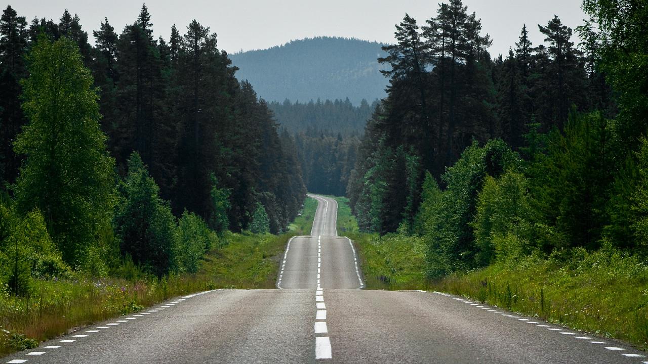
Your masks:
<instances>
[{"instance_id":1,"label":"pale grey overcast sky above the treetops and mountain","mask_svg":"<svg viewBox=\"0 0 648 364\"><path fill-rule=\"evenodd\" d=\"M108 17L117 32L133 23L142 3L132 0L19 0L9 3L30 21L34 16L58 19L67 8L78 14L91 36L99 21ZM392 43L394 25L407 12L419 21L436 14L438 1L429 0L148 0L156 36L168 40L174 23L181 33L192 19L218 34L220 49L265 49L290 40L313 36L341 36ZM583 23L580 0L464 0L469 12L481 18L483 31L491 34L491 54L507 54L515 45L522 24L534 44L542 42L537 24L546 25L553 15L575 28ZM3 9L6 8L6 3ZM577 39L573 39L578 43Z\"/></svg>"}]
</instances>

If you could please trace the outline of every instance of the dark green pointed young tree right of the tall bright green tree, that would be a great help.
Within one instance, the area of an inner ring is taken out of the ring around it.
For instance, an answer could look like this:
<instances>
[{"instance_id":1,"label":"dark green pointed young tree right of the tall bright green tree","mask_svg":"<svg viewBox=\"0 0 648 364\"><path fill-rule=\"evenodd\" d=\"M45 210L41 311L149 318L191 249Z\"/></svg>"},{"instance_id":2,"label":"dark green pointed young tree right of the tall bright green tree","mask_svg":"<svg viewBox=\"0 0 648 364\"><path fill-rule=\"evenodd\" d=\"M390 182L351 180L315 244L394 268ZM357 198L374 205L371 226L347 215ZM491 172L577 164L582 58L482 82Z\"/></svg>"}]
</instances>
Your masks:
<instances>
[{"instance_id":1,"label":"dark green pointed young tree right of the tall bright green tree","mask_svg":"<svg viewBox=\"0 0 648 364\"><path fill-rule=\"evenodd\" d=\"M176 218L168 203L159 198L159 188L139 154L128 159L128 175L119 189L113 224L122 255L130 255L150 273L165 275L174 264Z\"/></svg>"}]
</instances>

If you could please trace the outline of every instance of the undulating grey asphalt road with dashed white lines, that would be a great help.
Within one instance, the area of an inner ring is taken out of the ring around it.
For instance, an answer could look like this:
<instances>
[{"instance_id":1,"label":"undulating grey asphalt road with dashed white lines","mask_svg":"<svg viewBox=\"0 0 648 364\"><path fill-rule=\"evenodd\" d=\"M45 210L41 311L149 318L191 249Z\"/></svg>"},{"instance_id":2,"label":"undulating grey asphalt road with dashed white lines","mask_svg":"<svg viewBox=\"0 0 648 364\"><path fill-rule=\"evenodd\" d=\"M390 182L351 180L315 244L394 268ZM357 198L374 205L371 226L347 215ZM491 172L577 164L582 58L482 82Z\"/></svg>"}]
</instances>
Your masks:
<instances>
[{"instance_id":1,"label":"undulating grey asphalt road with dashed white lines","mask_svg":"<svg viewBox=\"0 0 648 364\"><path fill-rule=\"evenodd\" d=\"M0 363L648 363L623 343L446 293L359 290L337 203L313 197L311 235L290 240L276 290L177 297Z\"/></svg>"}]
</instances>

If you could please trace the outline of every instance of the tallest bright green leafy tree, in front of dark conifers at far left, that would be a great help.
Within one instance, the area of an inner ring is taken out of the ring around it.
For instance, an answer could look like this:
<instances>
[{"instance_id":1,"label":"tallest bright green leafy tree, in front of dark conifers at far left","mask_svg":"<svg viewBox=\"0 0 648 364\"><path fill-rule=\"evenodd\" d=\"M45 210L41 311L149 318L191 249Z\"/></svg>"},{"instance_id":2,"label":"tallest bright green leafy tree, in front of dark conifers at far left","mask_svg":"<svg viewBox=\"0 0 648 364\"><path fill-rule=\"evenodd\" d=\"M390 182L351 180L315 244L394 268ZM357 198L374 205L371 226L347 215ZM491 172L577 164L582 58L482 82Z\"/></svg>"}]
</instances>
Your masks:
<instances>
[{"instance_id":1,"label":"tallest bright green leafy tree, in front of dark conifers at far left","mask_svg":"<svg viewBox=\"0 0 648 364\"><path fill-rule=\"evenodd\" d=\"M23 109L29 123L15 142L27 155L16 183L17 209L43 212L67 264L78 266L110 224L114 161L106 151L93 78L73 43L45 37L27 57Z\"/></svg>"}]
</instances>

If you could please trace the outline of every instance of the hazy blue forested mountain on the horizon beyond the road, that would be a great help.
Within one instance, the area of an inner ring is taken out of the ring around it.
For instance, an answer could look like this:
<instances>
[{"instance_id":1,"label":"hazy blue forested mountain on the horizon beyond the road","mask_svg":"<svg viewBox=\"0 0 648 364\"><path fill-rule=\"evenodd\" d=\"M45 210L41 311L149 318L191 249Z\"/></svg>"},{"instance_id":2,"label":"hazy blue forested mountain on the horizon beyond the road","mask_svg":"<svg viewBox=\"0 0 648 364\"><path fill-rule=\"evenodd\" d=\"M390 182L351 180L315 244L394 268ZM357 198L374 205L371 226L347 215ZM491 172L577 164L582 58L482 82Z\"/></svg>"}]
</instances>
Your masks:
<instances>
[{"instance_id":1,"label":"hazy blue forested mountain on the horizon beyond the road","mask_svg":"<svg viewBox=\"0 0 648 364\"><path fill-rule=\"evenodd\" d=\"M229 54L248 80L268 102L336 100L349 98L355 105L386 96L388 79L376 61L385 56L383 43L347 38L318 37L281 46Z\"/></svg>"}]
</instances>

